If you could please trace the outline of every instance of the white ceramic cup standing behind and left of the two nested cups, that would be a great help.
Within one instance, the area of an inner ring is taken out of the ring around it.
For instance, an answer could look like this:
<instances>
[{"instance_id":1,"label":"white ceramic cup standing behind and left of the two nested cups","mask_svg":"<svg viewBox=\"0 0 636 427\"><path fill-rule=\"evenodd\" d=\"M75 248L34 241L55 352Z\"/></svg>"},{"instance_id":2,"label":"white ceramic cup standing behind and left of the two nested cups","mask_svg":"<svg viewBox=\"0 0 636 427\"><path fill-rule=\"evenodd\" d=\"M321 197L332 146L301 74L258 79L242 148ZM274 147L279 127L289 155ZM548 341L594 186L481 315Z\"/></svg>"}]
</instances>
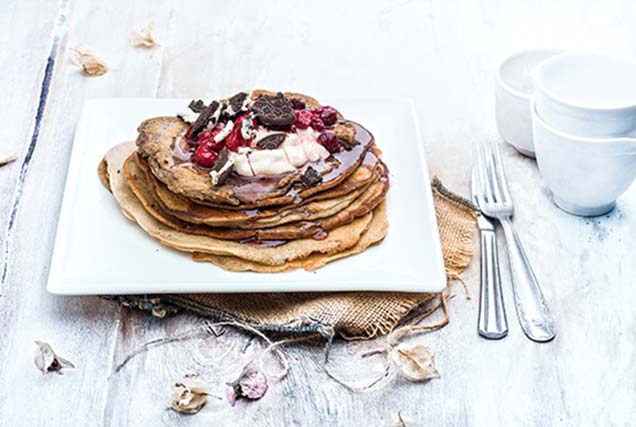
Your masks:
<instances>
[{"instance_id":1,"label":"white ceramic cup standing behind and left of the two nested cups","mask_svg":"<svg viewBox=\"0 0 636 427\"><path fill-rule=\"evenodd\" d=\"M530 98L531 71L561 53L555 49L530 49L504 60L495 77L495 119L499 135L521 154L534 157Z\"/></svg>"}]
</instances>

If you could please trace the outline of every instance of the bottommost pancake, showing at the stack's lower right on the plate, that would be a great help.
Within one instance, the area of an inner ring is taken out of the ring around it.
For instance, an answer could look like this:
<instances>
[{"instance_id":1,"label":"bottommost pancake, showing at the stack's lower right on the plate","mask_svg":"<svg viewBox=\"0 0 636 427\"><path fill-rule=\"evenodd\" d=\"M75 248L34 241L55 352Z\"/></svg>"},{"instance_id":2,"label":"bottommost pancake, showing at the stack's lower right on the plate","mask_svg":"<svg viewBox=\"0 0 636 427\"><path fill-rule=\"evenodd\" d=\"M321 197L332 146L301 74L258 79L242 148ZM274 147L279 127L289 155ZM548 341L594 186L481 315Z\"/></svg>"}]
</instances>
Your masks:
<instances>
[{"instance_id":1,"label":"bottommost pancake, showing at the stack's lower right on the plate","mask_svg":"<svg viewBox=\"0 0 636 427\"><path fill-rule=\"evenodd\" d=\"M259 273L280 273L283 271L304 268L307 271L315 271L330 262L359 254L370 246L382 241L386 236L389 223L386 219L386 203L382 202L374 211L373 218L367 231L354 246L342 252L333 254L313 254L304 259L297 259L280 265L265 265L252 261L246 261L233 256L221 256L195 252L192 259L200 262L211 262L229 271L255 271Z\"/></svg>"}]
</instances>

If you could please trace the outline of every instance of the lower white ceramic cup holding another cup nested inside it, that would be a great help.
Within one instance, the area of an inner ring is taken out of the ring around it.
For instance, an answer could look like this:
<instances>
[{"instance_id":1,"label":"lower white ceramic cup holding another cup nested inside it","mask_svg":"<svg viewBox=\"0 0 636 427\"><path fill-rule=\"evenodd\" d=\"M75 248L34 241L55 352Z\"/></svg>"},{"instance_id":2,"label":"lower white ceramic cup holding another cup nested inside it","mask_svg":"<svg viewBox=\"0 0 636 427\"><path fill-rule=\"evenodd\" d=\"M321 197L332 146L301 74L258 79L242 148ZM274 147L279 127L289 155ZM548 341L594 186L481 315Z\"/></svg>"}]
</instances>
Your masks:
<instances>
[{"instance_id":1,"label":"lower white ceramic cup holding another cup nested inside it","mask_svg":"<svg viewBox=\"0 0 636 427\"><path fill-rule=\"evenodd\" d=\"M611 211L636 178L636 138L583 138L557 130L531 104L534 147L554 202L579 216Z\"/></svg>"}]
</instances>

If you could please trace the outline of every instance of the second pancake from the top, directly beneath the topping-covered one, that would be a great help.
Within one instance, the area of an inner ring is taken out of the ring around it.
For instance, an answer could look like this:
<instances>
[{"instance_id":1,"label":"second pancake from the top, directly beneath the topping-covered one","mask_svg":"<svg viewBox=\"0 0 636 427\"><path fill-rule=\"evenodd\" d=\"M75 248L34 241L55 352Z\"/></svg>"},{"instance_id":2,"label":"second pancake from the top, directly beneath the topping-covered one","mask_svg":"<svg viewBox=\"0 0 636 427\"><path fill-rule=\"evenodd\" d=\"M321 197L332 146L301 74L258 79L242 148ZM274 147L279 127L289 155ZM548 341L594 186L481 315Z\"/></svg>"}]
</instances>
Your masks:
<instances>
[{"instance_id":1,"label":"second pancake from the top, directly beneath the topping-covered one","mask_svg":"<svg viewBox=\"0 0 636 427\"><path fill-rule=\"evenodd\" d=\"M213 227L264 228L331 216L346 207L385 170L383 165L378 165L379 160L374 152L367 153L367 159L363 164L335 188L289 206L248 210L224 209L194 203L172 193L158 181L143 159L137 157L137 163L146 173L155 200L170 215L182 221Z\"/></svg>"}]
</instances>

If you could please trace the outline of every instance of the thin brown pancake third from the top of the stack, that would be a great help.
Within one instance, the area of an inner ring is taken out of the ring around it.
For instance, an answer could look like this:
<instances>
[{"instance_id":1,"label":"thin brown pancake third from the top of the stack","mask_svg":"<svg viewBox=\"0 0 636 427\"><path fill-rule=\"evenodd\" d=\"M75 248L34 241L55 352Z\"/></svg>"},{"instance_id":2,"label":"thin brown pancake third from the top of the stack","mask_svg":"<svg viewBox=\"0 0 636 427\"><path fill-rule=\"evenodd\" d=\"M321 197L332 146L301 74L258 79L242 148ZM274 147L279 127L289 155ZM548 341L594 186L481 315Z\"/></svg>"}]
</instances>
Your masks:
<instances>
[{"instance_id":1,"label":"thin brown pancake third from the top of the stack","mask_svg":"<svg viewBox=\"0 0 636 427\"><path fill-rule=\"evenodd\" d=\"M240 229L228 227L210 227L191 224L166 213L157 203L146 175L138 167L136 158L131 155L124 163L124 175L130 189L143 204L144 208L161 223L189 234L208 236L228 240L256 239L259 241L293 240L326 236L325 233L348 224L356 218L371 212L382 200L388 190L388 183L381 178L373 182L358 198L334 215L313 221L301 221L278 225L271 228ZM278 244L279 242L277 242Z\"/></svg>"}]
</instances>

